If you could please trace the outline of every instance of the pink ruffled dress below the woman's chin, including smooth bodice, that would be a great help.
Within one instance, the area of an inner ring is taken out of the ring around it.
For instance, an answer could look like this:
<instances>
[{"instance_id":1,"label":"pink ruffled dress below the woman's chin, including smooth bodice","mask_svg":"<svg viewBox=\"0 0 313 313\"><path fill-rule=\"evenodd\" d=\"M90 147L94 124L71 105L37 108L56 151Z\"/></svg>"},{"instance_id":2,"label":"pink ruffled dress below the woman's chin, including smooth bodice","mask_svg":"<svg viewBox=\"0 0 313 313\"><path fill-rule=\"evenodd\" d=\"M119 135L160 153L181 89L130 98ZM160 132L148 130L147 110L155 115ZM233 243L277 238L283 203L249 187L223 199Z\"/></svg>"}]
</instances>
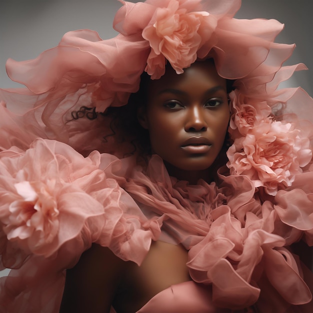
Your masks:
<instances>
[{"instance_id":1,"label":"pink ruffled dress below the woman's chin, including smooth bodice","mask_svg":"<svg viewBox=\"0 0 313 313\"><path fill-rule=\"evenodd\" d=\"M261 311L294 312L311 300L302 267L285 247L292 231L297 237L303 231L286 227L243 175L228 179L220 173L218 185L188 185L170 177L156 155L144 169L134 157L97 151L83 157L46 139L35 140L26 152L12 147L1 153L1 196L12 203L9 212L1 209L2 262L16 268L0 280L3 312L57 311L64 269L91 242L137 264L151 240L188 250L192 281L161 291L139 312L242 311L254 304ZM45 216L29 212L36 205Z\"/></svg>"}]
</instances>

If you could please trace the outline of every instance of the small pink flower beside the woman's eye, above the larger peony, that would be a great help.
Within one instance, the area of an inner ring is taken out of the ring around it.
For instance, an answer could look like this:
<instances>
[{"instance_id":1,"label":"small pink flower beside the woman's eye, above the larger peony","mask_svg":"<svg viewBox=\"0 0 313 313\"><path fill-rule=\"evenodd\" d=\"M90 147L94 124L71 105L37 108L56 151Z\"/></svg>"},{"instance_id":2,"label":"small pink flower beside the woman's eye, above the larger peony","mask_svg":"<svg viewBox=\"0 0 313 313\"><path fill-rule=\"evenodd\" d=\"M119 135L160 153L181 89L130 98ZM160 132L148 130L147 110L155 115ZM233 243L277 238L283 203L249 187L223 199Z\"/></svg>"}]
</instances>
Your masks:
<instances>
[{"instance_id":1,"label":"small pink flower beside the woman's eye, above the larger peony","mask_svg":"<svg viewBox=\"0 0 313 313\"><path fill-rule=\"evenodd\" d=\"M229 122L229 133L232 138L246 135L249 129L260 123L270 123L271 108L265 101L250 98L238 89L229 93L232 103L232 116Z\"/></svg>"}]
</instances>

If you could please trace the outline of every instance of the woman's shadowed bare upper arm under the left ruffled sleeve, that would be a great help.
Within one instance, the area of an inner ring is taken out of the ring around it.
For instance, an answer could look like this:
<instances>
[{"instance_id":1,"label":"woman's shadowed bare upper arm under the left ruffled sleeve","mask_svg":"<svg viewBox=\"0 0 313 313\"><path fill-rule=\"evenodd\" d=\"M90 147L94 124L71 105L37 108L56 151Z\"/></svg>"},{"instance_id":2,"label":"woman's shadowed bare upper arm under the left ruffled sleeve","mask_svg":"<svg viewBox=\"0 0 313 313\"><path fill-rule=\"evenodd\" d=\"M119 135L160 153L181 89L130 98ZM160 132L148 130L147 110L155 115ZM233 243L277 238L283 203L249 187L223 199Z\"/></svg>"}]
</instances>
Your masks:
<instances>
[{"instance_id":1,"label":"woman's shadowed bare upper arm under the left ruffled sleeve","mask_svg":"<svg viewBox=\"0 0 313 313\"><path fill-rule=\"evenodd\" d=\"M60 312L109 312L124 263L108 248L93 244L66 270Z\"/></svg>"}]
</instances>

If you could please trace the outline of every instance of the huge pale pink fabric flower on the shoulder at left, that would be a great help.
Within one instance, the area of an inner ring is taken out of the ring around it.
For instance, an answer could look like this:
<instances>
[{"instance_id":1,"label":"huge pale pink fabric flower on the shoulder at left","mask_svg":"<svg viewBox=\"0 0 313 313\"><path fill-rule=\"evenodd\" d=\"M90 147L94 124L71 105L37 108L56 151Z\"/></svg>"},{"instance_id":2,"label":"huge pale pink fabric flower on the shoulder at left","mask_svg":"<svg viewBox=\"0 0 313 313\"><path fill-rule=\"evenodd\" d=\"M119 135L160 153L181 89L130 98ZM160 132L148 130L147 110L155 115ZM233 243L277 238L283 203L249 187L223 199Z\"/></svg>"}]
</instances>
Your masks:
<instances>
[{"instance_id":1,"label":"huge pale pink fabric flower on the shoulder at left","mask_svg":"<svg viewBox=\"0 0 313 313\"><path fill-rule=\"evenodd\" d=\"M18 246L22 253L49 256L90 218L100 231L96 220L104 202L99 201L113 188L107 187L98 164L99 153L84 158L53 140L38 139L25 152L14 147L1 152L0 232L8 240L2 249Z\"/></svg>"}]
</instances>

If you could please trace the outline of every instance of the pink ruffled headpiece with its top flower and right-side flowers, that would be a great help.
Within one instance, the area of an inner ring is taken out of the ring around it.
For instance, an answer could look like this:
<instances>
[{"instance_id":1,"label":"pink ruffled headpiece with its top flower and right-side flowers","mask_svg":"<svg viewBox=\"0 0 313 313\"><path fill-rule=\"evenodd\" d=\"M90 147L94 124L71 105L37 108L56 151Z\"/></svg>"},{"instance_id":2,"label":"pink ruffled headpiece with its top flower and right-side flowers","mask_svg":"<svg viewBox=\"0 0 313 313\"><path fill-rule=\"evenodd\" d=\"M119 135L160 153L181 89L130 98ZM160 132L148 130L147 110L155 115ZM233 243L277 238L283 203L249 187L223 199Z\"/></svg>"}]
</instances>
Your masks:
<instances>
[{"instance_id":1,"label":"pink ruffled headpiece with its top flower and right-side flowers","mask_svg":"<svg viewBox=\"0 0 313 313\"><path fill-rule=\"evenodd\" d=\"M274 120L272 111L297 111L306 118L299 99L310 107L313 101L300 88L277 89L295 70L306 68L303 64L282 66L294 48L273 42L283 25L272 19L233 18L240 0L121 2L113 22L119 32L116 37L102 40L91 30L70 31L58 46L34 60L8 60L10 77L28 88L18 92L23 108L19 105L16 109L38 123L36 135L40 129L41 137L56 138L81 152L101 150L101 138L94 137L99 128L103 132L103 123L91 130L84 122L66 124L73 110L83 105L100 112L110 105L124 105L129 94L137 91L144 70L157 79L164 74L166 62L179 74L196 59L212 57L220 76L236 79L236 89L230 93L230 171L248 175L256 187L265 186L270 194L279 186L289 186L310 160L310 134L307 130L298 134L294 129L298 125ZM25 94L29 107L25 107ZM18 98L14 100L18 104ZM294 122L291 116L288 118ZM41 133L42 122L45 135ZM82 147L81 140L88 137L90 145ZM264 146L259 146L260 140ZM245 151L249 145L257 146L253 155ZM271 149L284 155L288 151L288 157L269 161ZM307 151L305 156L303 151Z\"/></svg>"}]
</instances>

